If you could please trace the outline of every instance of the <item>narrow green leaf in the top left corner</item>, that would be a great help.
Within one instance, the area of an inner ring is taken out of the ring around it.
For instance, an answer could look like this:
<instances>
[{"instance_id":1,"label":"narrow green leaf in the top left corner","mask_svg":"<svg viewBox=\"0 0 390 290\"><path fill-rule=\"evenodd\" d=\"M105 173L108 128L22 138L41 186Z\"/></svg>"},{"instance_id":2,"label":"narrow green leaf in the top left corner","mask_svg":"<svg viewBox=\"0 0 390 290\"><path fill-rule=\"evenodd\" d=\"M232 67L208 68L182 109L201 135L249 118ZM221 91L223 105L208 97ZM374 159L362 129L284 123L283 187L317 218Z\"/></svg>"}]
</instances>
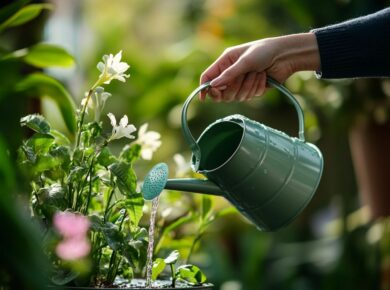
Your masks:
<instances>
[{"instance_id":1,"label":"narrow green leaf in the top left corner","mask_svg":"<svg viewBox=\"0 0 390 290\"><path fill-rule=\"evenodd\" d=\"M15 14L9 17L5 22L0 24L0 31L8 28L22 25L35 17L37 17L42 10L52 9L53 5L50 4L30 4L24 6L22 9L18 10Z\"/></svg>"}]
</instances>

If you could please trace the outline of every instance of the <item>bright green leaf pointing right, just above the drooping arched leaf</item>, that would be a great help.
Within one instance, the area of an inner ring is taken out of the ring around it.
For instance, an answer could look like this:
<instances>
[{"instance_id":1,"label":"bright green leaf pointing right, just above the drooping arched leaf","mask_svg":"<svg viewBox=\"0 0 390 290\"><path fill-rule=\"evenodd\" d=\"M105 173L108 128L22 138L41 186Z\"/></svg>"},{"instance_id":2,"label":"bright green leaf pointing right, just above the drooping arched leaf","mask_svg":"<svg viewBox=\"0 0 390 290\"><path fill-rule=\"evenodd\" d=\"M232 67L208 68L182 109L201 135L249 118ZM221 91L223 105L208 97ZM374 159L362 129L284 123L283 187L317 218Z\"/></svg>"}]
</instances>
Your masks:
<instances>
[{"instance_id":1,"label":"bright green leaf pointing right, just above the drooping arched leaf","mask_svg":"<svg viewBox=\"0 0 390 290\"><path fill-rule=\"evenodd\" d=\"M71 54L64 48L49 43L38 43L28 48L23 60L39 68L71 67L74 65L74 58Z\"/></svg>"}]
</instances>

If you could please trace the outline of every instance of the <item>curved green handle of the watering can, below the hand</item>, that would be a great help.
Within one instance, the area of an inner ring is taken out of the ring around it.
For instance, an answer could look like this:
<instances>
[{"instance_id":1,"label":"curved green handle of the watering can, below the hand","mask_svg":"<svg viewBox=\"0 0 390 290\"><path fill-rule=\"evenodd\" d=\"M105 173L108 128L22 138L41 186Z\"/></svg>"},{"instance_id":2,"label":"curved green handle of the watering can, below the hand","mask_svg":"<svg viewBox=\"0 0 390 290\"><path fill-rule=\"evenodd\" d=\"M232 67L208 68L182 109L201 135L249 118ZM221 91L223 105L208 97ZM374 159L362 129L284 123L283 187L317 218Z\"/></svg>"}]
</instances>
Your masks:
<instances>
[{"instance_id":1,"label":"curved green handle of the watering can, below the hand","mask_svg":"<svg viewBox=\"0 0 390 290\"><path fill-rule=\"evenodd\" d=\"M275 89L279 90L281 93L283 93L285 96L288 97L290 102L294 105L295 110L298 113L298 121L299 121L299 131L298 131L298 137L299 140L302 142L305 142L305 131L304 131L304 117L303 117L303 111L301 106L299 105L298 101L295 99L294 95L283 85L275 81L274 79L267 77L267 83L274 87ZM187 123L187 110L188 106L191 103L192 99L198 95L201 91L208 89L211 87L210 82L206 82L204 84L201 84L198 88L196 88L191 95L187 98L187 100L184 102L183 109L181 111L181 124L182 124L182 130L184 134L184 138L186 139L188 145L190 146L192 153L195 157L195 164L194 164L194 170L198 171L199 163L200 163L200 157L201 152L198 143L196 143L195 138L192 136L190 129L188 128Z\"/></svg>"}]
</instances>

